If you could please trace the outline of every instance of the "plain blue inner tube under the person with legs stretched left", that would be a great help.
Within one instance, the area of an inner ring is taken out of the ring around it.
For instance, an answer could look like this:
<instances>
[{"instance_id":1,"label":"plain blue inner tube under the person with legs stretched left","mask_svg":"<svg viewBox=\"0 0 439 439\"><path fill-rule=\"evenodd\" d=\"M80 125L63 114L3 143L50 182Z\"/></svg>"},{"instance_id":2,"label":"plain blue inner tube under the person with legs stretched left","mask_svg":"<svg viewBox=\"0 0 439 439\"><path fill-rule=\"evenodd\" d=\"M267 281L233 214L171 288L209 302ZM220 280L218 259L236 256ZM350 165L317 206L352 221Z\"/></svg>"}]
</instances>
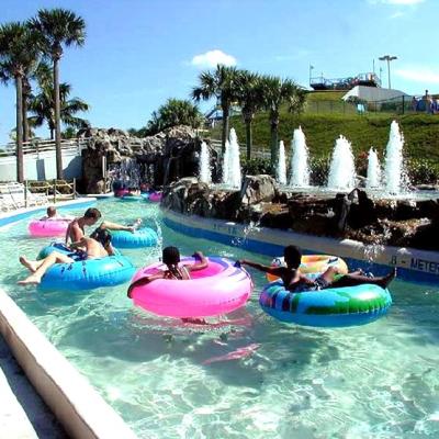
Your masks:
<instances>
[{"instance_id":1,"label":"plain blue inner tube under the person with legs stretched left","mask_svg":"<svg viewBox=\"0 0 439 439\"><path fill-rule=\"evenodd\" d=\"M38 258L42 259L53 251L71 255L71 250L63 244L53 244L43 248ZM135 268L131 261L117 251L115 256L100 259L56 263L44 274L40 286L46 291L83 291L114 286L128 282L134 272Z\"/></svg>"}]
</instances>

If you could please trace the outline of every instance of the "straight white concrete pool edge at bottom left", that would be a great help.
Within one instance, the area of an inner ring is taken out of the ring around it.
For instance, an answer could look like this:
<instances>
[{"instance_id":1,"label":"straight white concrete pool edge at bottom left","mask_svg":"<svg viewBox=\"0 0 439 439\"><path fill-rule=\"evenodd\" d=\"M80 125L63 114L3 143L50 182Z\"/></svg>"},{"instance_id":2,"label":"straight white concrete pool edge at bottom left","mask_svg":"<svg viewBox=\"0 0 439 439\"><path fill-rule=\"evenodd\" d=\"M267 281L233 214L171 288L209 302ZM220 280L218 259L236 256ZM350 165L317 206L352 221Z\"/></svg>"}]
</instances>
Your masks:
<instances>
[{"instance_id":1,"label":"straight white concrete pool edge at bottom left","mask_svg":"<svg viewBox=\"0 0 439 439\"><path fill-rule=\"evenodd\" d=\"M27 379L72 438L136 438L2 290L0 333Z\"/></svg>"}]
</instances>

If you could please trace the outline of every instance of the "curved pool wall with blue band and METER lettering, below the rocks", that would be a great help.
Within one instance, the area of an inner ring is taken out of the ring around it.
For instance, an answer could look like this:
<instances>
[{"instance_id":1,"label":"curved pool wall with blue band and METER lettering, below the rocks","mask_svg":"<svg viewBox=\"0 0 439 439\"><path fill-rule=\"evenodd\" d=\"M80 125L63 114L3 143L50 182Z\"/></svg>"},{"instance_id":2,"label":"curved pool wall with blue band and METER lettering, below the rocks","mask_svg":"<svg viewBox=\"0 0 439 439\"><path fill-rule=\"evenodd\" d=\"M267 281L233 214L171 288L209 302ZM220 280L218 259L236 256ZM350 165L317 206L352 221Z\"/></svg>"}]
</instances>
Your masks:
<instances>
[{"instance_id":1,"label":"curved pool wall with blue band and METER lettering, below the rocks","mask_svg":"<svg viewBox=\"0 0 439 439\"><path fill-rule=\"evenodd\" d=\"M305 235L292 230L268 227L250 228L248 225L226 219L184 215L161 207L164 223L176 232L196 238L236 246L261 255L279 256L286 244L300 246L306 254L337 255L353 268L372 269L375 274L398 269L398 278L407 282L439 284L439 251L418 250L404 247L365 246L352 239L334 239ZM373 263L368 259L373 252Z\"/></svg>"}]
</instances>

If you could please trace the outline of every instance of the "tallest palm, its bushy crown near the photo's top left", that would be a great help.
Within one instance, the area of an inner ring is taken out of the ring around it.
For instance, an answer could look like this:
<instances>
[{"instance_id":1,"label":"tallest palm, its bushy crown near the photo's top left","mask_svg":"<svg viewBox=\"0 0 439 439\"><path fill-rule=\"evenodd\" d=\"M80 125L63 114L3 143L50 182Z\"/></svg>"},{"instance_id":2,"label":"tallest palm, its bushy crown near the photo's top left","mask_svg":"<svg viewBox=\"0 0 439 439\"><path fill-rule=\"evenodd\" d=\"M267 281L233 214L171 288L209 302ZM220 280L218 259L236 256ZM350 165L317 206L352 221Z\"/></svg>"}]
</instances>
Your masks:
<instances>
[{"instance_id":1,"label":"tallest palm, its bushy crown near the photo's top left","mask_svg":"<svg viewBox=\"0 0 439 439\"><path fill-rule=\"evenodd\" d=\"M55 102L55 140L56 173L63 178L60 98L59 98L59 60L63 57L63 45L66 47L82 46L86 41L86 22L75 12L55 8L41 9L36 18L31 19L31 26L42 36L42 50L53 61L54 102Z\"/></svg>"}]
</instances>

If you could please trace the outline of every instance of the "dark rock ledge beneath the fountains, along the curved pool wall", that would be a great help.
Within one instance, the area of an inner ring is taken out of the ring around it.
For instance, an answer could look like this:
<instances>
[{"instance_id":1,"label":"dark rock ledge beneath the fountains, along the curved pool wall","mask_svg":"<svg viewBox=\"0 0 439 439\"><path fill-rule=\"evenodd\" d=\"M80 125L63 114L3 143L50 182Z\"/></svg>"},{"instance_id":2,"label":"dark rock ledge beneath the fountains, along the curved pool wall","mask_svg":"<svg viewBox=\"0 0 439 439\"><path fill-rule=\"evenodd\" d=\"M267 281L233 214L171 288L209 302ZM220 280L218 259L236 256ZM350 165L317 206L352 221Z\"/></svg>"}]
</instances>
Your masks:
<instances>
[{"instance_id":1,"label":"dark rock ledge beneath the fountains, along the curved pool wall","mask_svg":"<svg viewBox=\"0 0 439 439\"><path fill-rule=\"evenodd\" d=\"M316 195L281 193L269 176L248 176L241 190L215 189L196 178L169 185L162 206L203 217L304 234L439 250L439 201L373 200L364 191Z\"/></svg>"}]
</instances>

